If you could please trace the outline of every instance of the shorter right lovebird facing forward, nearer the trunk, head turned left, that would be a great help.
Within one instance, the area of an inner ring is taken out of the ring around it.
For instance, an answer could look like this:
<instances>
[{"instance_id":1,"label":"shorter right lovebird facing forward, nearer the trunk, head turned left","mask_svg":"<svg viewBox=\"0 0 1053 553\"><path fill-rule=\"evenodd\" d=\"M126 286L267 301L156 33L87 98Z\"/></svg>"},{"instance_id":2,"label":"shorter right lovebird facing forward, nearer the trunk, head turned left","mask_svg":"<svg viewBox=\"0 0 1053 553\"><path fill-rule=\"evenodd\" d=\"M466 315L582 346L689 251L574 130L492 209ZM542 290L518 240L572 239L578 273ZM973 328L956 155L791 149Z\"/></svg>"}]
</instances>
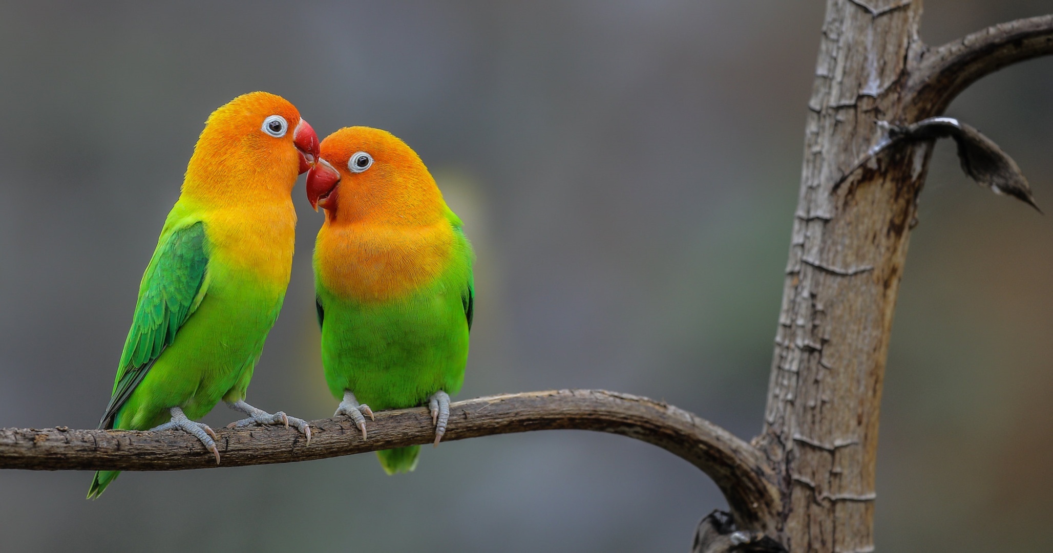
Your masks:
<instances>
[{"instance_id":1,"label":"shorter right lovebird facing forward, nearer the trunk, head turned left","mask_svg":"<svg viewBox=\"0 0 1053 553\"><path fill-rule=\"evenodd\" d=\"M420 157L386 131L351 126L321 143L307 200L325 222L314 269L322 366L336 415L365 439L373 409L429 403L435 445L464 381L474 254ZM364 415L363 415L364 413ZM419 446L378 451L388 474L412 471Z\"/></svg>"}]
</instances>

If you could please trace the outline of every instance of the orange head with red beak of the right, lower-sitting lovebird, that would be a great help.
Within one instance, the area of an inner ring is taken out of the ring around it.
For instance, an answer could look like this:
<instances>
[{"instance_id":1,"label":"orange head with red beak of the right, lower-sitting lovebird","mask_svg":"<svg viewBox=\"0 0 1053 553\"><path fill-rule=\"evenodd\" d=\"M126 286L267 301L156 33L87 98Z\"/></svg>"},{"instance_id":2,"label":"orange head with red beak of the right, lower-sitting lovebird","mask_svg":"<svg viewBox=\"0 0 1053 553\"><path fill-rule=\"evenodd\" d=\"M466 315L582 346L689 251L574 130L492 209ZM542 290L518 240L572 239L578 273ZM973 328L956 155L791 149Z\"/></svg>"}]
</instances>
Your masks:
<instances>
[{"instance_id":1,"label":"orange head with red beak of the right, lower-sitting lovebird","mask_svg":"<svg viewBox=\"0 0 1053 553\"><path fill-rule=\"evenodd\" d=\"M435 179L405 142L388 131L346 126L325 137L307 172L307 200L330 222L429 224L445 203Z\"/></svg>"}]
</instances>

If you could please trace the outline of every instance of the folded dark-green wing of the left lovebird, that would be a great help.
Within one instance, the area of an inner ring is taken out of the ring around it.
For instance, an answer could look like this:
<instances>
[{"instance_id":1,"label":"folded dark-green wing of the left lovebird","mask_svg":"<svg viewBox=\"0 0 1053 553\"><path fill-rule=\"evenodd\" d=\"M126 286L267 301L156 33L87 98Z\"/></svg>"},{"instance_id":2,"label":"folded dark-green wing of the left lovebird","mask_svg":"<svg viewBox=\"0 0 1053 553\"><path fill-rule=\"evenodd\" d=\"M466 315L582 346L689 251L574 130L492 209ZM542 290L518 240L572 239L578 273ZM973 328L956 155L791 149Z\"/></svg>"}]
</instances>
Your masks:
<instances>
[{"instance_id":1,"label":"folded dark-green wing of the left lovebird","mask_svg":"<svg viewBox=\"0 0 1053 553\"><path fill-rule=\"evenodd\" d=\"M157 244L139 285L132 330L124 341L114 393L99 421L100 429L113 427L121 406L201 303L207 288L206 250L207 238L201 221L173 230Z\"/></svg>"}]
</instances>

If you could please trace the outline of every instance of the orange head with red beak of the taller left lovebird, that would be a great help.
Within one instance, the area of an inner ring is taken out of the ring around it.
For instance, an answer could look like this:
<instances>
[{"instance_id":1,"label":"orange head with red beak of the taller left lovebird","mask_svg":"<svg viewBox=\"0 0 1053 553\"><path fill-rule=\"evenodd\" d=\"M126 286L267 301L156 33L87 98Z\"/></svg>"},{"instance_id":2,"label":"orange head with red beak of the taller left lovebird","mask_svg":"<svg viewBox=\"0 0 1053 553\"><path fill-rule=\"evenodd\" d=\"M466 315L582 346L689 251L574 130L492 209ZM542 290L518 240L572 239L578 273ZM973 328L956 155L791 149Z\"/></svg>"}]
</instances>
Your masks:
<instances>
[{"instance_id":1,"label":"orange head with red beak of the taller left lovebird","mask_svg":"<svg viewBox=\"0 0 1053 553\"><path fill-rule=\"evenodd\" d=\"M292 103L264 92L243 94L208 116L183 192L226 200L264 190L289 194L318 155L318 135Z\"/></svg>"}]
</instances>

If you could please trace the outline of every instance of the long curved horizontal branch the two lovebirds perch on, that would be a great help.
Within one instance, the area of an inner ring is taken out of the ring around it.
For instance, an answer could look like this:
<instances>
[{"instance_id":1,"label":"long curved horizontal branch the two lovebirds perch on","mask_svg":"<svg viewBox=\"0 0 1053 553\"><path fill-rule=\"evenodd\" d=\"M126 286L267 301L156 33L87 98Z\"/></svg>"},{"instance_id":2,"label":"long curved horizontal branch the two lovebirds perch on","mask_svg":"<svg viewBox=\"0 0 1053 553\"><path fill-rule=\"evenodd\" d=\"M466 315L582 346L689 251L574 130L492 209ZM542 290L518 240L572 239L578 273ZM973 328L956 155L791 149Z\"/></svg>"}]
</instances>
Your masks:
<instances>
[{"instance_id":1,"label":"long curved horizontal branch the two lovebirds perch on","mask_svg":"<svg viewBox=\"0 0 1053 553\"><path fill-rule=\"evenodd\" d=\"M311 445L293 429L218 430L223 467L293 462L430 443L424 408L383 411L369 439L345 417L311 421ZM762 456L728 431L682 409L601 390L559 390L480 397L450 406L445 440L533 430L592 430L647 441L712 477L739 528L771 530L779 501ZM171 471L215 467L212 453L183 432L0 430L0 469Z\"/></svg>"}]
</instances>

